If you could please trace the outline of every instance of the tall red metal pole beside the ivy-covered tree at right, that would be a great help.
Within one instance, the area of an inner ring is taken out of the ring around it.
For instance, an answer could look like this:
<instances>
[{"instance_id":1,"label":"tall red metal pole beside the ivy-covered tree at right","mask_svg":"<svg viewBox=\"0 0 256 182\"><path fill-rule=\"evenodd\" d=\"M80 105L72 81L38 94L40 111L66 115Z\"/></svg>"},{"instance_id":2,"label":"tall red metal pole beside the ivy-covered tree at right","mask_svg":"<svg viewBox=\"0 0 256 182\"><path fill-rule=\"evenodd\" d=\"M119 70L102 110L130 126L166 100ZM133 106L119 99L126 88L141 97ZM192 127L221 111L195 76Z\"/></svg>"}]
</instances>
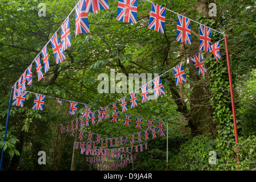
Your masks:
<instances>
[{"instance_id":1,"label":"tall red metal pole beside the ivy-covered tree at right","mask_svg":"<svg viewBox=\"0 0 256 182\"><path fill-rule=\"evenodd\" d=\"M237 134L237 118L236 118L236 108L234 105L234 94L233 94L233 85L232 85L232 76L231 76L231 70L230 70L230 62L229 62L229 49L228 49L228 39L226 34L224 34L224 40L225 40L225 48L226 48L226 62L228 64L228 74L229 74L229 87L230 87L230 97L231 97L231 105L232 105L232 113L233 113L233 123L234 123L234 134L236 139L236 149L237 149L237 164L238 164L238 170L240 169L239 164L239 155L238 155L238 134Z\"/></svg>"}]
</instances>

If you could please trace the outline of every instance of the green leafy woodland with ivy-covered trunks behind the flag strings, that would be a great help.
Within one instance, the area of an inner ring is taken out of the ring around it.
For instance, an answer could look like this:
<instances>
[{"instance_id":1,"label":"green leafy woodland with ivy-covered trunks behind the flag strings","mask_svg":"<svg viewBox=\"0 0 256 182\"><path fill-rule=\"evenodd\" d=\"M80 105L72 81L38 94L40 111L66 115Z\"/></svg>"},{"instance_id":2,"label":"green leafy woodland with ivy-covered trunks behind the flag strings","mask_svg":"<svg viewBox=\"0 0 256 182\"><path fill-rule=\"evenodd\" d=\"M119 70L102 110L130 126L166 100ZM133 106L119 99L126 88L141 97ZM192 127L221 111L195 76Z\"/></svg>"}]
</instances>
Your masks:
<instances>
[{"instance_id":1,"label":"green leafy woodland with ivy-covered trunks behind the flag strings","mask_svg":"<svg viewBox=\"0 0 256 182\"><path fill-rule=\"evenodd\" d=\"M91 104L93 110L121 98L123 94L97 92L97 76L117 73L159 73L199 52L199 25L191 22L192 44L176 42L176 14L166 11L165 34L148 30L151 4L138 1L137 24L116 20L117 2L109 0L109 10L88 13L89 34L75 38L75 11L69 16L72 46L65 51L67 60L56 65L48 46L50 70L37 81L33 65L33 86L27 90L47 96ZM241 170L255 170L256 157L256 71L255 71L255 1L191 0L160 1L188 18L228 35L236 104ZM217 16L210 17L209 3L217 5ZM46 4L46 16L38 16L39 3ZM0 1L0 147L3 146L11 86L27 69L77 1ZM60 38L60 31L58 32ZM222 39L212 31L212 43ZM155 101L129 109L129 113L164 121L169 124L168 163L166 137L148 140L146 152L139 154L140 170L237 170L236 146L230 102L228 71L224 41L220 42L221 60L203 53L207 73L198 75L195 67L184 65L188 81L176 86L172 72L161 80L166 94ZM139 95L139 94L138 94ZM43 111L33 110L34 94L27 94L24 107L11 107L2 170L51 170L58 125L68 123L82 113L69 115L69 104L61 106L54 98L46 98ZM128 99L129 101L129 99ZM129 106L129 105L128 105ZM118 105L118 109L120 109ZM135 122L135 120L133 119ZM132 122L133 122L132 121ZM133 123L134 123L133 122ZM144 123L145 125L145 123ZM104 121L86 129L93 133L122 136L137 132L134 127ZM166 125L165 125L166 130ZM55 170L70 170L73 142L69 133L60 134ZM38 164L38 152L45 151L46 165ZM2 149L1 149L2 151ZM209 151L217 152L217 164L208 163ZM75 164L78 163L74 160ZM84 158L80 166L84 166ZM87 163L89 169L89 163ZM138 162L135 160L134 166ZM137 167L135 167L137 169ZM80 170L83 168L80 167ZM91 168L92 169L92 168ZM125 170L131 170L129 164ZM77 170L77 165L73 168Z\"/></svg>"}]
</instances>

